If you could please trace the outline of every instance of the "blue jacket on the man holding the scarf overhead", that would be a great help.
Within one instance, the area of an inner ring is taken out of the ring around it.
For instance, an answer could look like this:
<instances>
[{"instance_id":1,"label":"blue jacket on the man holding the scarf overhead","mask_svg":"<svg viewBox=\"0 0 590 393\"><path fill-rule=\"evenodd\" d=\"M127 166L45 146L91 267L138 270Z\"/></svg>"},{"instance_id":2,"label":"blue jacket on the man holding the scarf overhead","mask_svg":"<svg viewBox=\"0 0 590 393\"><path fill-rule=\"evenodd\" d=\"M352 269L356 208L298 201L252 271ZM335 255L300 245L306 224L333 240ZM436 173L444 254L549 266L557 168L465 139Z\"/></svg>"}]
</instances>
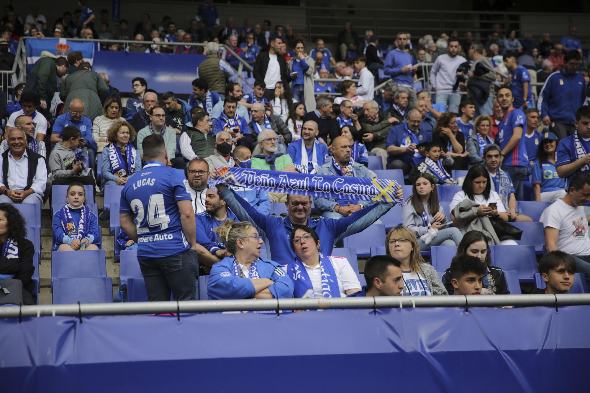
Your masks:
<instances>
[{"instance_id":1,"label":"blue jacket on the man holding the scarf overhead","mask_svg":"<svg viewBox=\"0 0 590 393\"><path fill-rule=\"evenodd\" d=\"M269 258L273 258L281 265L286 265L295 258L295 253L291 250L290 245L293 224L289 217L261 214L228 188L221 192L221 198L224 199L235 216L240 218L240 221L250 221L256 226L264 238ZM320 217L317 220L308 218L307 225L312 227L322 240L320 253L332 255L334 244L349 235L364 230L392 207L393 204L387 203L373 204L339 220L325 217Z\"/></svg>"}]
</instances>

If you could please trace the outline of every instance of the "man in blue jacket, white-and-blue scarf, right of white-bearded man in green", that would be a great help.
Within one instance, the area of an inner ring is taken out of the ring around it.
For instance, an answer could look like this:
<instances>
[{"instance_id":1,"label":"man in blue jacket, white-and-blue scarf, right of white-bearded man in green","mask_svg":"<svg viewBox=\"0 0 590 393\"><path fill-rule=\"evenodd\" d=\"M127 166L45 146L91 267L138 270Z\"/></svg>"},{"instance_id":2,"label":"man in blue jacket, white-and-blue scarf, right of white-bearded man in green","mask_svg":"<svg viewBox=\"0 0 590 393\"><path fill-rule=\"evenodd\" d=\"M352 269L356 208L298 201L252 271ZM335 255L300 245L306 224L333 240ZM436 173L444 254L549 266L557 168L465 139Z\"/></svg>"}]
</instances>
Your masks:
<instances>
[{"instance_id":1,"label":"man in blue jacket, white-and-blue scarf, right of white-bearded man in green","mask_svg":"<svg viewBox=\"0 0 590 393\"><path fill-rule=\"evenodd\" d=\"M301 127L301 138L287 148L287 154L291 156L297 172L317 173L324 163L328 162L328 149L324 143L316 139L318 132L317 123L308 120Z\"/></svg>"}]
</instances>

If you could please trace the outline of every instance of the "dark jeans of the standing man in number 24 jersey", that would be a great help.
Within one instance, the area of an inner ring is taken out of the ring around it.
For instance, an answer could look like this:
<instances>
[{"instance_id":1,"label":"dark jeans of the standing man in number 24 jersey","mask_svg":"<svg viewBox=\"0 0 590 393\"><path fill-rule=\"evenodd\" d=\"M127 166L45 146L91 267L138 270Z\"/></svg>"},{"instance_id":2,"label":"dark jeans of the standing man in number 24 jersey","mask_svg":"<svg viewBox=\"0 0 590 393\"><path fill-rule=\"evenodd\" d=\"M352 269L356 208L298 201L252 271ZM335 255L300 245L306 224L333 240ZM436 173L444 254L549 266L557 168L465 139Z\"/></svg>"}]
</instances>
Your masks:
<instances>
[{"instance_id":1,"label":"dark jeans of the standing man in number 24 jersey","mask_svg":"<svg viewBox=\"0 0 590 393\"><path fill-rule=\"evenodd\" d=\"M167 302L170 292L174 300L196 300L196 279L199 266L196 251L165 258L139 261L150 302Z\"/></svg>"}]
</instances>

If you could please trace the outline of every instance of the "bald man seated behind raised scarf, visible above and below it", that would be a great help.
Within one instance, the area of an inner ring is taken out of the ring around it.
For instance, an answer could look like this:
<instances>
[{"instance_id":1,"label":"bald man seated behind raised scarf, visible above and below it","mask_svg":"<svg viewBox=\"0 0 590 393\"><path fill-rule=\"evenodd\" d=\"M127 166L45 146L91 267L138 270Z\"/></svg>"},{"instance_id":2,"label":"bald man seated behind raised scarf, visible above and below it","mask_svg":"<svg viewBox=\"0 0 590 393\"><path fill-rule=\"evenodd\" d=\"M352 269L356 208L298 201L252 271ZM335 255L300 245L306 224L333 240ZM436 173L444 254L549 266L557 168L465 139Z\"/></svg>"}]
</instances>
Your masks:
<instances>
[{"instance_id":1,"label":"bald man seated behind raised scarf, visible above and below it","mask_svg":"<svg viewBox=\"0 0 590 393\"><path fill-rule=\"evenodd\" d=\"M319 175L345 176L371 179L369 169L350 157L352 145L346 136L339 136L332 142L332 159L320 168ZM350 201L336 198L322 198L315 196L313 205L320 211L322 217L342 218L348 217L355 211L368 207L375 202Z\"/></svg>"}]
</instances>

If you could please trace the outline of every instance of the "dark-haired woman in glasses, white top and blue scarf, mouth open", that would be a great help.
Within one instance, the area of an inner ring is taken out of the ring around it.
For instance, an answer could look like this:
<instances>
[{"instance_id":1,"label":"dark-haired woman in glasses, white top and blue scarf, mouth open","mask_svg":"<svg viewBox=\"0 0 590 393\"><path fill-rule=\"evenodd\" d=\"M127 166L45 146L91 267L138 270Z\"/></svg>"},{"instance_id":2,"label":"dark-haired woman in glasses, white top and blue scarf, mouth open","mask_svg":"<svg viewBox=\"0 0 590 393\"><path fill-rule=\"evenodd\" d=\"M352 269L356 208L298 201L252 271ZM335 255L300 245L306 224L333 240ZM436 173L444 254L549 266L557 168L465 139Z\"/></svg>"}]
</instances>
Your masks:
<instances>
[{"instance_id":1,"label":"dark-haired woman in glasses, white top and blue scarf, mouth open","mask_svg":"<svg viewBox=\"0 0 590 393\"><path fill-rule=\"evenodd\" d=\"M360 291L359 279L348 259L320 254L316 231L293 225L291 250L296 258L287 265L294 297L346 297Z\"/></svg>"}]
</instances>

